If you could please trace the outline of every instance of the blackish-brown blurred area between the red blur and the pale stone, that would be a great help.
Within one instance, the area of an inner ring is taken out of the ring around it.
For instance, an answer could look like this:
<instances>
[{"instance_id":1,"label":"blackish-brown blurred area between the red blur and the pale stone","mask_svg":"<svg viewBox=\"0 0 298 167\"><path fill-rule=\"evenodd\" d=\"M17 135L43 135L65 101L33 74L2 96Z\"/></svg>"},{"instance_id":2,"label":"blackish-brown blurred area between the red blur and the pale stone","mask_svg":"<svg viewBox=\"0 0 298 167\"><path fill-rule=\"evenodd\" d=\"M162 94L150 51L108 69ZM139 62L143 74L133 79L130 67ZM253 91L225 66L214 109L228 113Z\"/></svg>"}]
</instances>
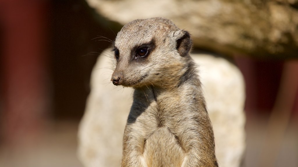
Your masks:
<instances>
[{"instance_id":1,"label":"blackish-brown blurred area between the red blur and the pale stone","mask_svg":"<svg viewBox=\"0 0 298 167\"><path fill-rule=\"evenodd\" d=\"M53 78L53 119L79 120L90 91L93 65L106 41L92 40L98 35L113 39L115 35L96 22L85 1L52 1L49 12L51 73Z\"/></svg>"}]
</instances>

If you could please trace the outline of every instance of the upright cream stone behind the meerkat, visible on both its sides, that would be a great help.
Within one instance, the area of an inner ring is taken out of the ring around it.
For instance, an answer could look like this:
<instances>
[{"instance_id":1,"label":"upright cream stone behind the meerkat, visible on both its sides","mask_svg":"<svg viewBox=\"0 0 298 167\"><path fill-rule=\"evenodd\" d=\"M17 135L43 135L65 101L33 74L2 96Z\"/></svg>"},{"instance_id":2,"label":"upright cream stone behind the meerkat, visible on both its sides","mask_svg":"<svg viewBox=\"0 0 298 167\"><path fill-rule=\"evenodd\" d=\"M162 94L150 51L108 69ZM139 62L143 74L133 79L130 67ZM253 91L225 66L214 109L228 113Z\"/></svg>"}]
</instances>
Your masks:
<instances>
[{"instance_id":1,"label":"upright cream stone behind the meerkat, visible on both its sides","mask_svg":"<svg viewBox=\"0 0 298 167\"><path fill-rule=\"evenodd\" d=\"M122 136L132 103L131 88L114 86L109 49L97 60L91 75L91 93L79 127L80 161L85 167L119 167ZM215 133L221 167L238 167L245 150L244 81L235 65L211 54L192 54Z\"/></svg>"}]
</instances>

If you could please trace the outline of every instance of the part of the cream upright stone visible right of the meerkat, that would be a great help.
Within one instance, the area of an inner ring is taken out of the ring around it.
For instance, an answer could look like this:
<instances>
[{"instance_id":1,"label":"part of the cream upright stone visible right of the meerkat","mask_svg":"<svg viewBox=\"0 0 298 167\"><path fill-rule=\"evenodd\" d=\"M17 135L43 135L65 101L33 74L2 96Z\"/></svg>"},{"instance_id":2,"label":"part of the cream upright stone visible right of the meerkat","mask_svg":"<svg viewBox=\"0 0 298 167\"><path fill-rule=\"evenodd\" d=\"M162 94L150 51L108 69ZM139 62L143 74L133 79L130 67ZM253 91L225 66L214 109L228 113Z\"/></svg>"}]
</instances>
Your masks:
<instances>
[{"instance_id":1,"label":"part of the cream upright stone visible right of the meerkat","mask_svg":"<svg viewBox=\"0 0 298 167\"><path fill-rule=\"evenodd\" d=\"M239 167L245 151L245 88L238 68L210 54L193 54L199 64L207 110L221 167Z\"/></svg>"}]
</instances>

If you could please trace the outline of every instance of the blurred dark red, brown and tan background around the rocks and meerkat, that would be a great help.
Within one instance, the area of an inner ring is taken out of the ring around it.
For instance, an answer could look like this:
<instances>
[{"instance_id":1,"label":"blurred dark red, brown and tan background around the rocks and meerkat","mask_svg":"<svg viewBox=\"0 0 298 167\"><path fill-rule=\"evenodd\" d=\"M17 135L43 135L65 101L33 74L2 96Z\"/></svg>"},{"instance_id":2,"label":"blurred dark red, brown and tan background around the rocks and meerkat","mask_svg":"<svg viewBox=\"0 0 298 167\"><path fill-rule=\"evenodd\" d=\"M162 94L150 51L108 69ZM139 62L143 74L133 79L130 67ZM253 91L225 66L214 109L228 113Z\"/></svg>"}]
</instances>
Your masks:
<instances>
[{"instance_id":1,"label":"blurred dark red, brown and tan background around the rocks and meerkat","mask_svg":"<svg viewBox=\"0 0 298 167\"><path fill-rule=\"evenodd\" d=\"M121 27L84 0L0 1L0 166L82 166L77 128L111 44L94 38L114 40ZM246 83L243 166L298 166L298 53L288 45L285 55L223 54Z\"/></svg>"}]
</instances>

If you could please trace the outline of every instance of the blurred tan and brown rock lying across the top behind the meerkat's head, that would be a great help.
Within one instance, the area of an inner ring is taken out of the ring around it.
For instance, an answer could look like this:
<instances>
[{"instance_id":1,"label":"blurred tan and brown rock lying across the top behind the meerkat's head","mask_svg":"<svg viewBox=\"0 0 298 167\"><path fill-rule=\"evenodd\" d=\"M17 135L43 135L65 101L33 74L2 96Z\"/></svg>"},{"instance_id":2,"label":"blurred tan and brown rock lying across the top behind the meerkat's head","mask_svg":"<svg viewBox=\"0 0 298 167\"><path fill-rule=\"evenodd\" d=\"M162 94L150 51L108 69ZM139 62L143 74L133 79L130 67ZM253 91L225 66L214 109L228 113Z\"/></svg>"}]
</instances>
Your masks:
<instances>
[{"instance_id":1,"label":"blurred tan and brown rock lying across the top behind the meerkat's head","mask_svg":"<svg viewBox=\"0 0 298 167\"><path fill-rule=\"evenodd\" d=\"M298 56L297 0L86 0L122 25L137 18L165 17L189 30L194 46L226 55Z\"/></svg>"}]
</instances>

